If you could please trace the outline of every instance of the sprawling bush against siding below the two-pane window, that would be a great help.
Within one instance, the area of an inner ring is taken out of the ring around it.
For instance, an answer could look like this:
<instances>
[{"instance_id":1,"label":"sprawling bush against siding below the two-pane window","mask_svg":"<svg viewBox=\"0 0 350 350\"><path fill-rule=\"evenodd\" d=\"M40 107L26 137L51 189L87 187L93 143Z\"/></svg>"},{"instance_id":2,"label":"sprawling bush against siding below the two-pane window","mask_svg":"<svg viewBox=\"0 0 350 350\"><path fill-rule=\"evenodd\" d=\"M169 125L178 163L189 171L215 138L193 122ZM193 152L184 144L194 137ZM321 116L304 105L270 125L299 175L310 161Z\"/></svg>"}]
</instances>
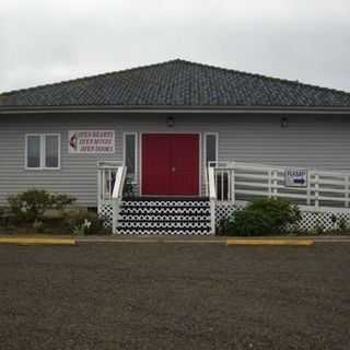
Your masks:
<instances>
[{"instance_id":1,"label":"sprawling bush against siding below the two-pane window","mask_svg":"<svg viewBox=\"0 0 350 350\"><path fill-rule=\"evenodd\" d=\"M75 198L68 195L51 195L46 190L31 189L8 198L10 211L16 223L43 222L47 210L62 210Z\"/></svg>"}]
</instances>

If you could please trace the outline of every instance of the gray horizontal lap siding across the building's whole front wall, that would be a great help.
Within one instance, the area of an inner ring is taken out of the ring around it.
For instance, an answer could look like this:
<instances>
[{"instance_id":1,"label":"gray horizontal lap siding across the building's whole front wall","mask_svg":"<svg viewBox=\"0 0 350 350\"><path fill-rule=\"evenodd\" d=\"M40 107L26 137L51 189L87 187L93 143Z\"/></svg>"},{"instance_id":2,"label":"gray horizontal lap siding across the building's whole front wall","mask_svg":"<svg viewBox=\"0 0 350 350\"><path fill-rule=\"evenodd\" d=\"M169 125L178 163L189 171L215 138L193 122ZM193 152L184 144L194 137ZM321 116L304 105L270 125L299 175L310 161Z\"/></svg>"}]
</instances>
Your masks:
<instances>
[{"instance_id":1,"label":"gray horizontal lap siding across the building's whole front wall","mask_svg":"<svg viewBox=\"0 0 350 350\"><path fill-rule=\"evenodd\" d=\"M173 128L166 127L165 119L166 115L143 114L0 116L0 206L9 195L27 188L68 192L81 206L96 206L96 164L101 160L122 160L124 131L219 132L221 161L350 171L349 117L293 115L287 128L281 128L278 115L175 115ZM69 154L71 129L114 129L116 153ZM25 133L31 132L61 135L60 170L24 168Z\"/></svg>"}]
</instances>

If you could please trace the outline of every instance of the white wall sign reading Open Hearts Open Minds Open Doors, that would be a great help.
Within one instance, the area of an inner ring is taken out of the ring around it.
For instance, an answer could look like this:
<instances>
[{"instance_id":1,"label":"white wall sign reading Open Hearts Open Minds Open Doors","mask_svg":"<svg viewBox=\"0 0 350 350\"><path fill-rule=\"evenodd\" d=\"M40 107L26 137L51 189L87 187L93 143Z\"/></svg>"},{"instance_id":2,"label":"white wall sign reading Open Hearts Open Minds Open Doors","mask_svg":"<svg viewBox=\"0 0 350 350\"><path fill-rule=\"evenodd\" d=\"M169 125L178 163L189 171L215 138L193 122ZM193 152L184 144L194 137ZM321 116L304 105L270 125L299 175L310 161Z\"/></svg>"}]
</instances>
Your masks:
<instances>
[{"instance_id":1,"label":"white wall sign reading Open Hearts Open Minds Open Doors","mask_svg":"<svg viewBox=\"0 0 350 350\"><path fill-rule=\"evenodd\" d=\"M69 153L115 153L114 130L69 130Z\"/></svg>"}]
</instances>

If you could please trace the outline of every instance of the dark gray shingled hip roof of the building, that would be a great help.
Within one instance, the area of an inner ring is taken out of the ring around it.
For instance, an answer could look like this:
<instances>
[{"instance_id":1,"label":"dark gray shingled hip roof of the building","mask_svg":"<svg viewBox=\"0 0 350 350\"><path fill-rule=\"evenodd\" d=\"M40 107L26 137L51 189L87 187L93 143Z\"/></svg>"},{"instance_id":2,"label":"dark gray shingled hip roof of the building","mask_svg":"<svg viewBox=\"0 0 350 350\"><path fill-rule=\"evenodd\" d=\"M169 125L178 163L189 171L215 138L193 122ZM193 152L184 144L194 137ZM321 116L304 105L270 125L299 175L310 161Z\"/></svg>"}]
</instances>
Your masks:
<instances>
[{"instance_id":1,"label":"dark gray shingled hip roof of the building","mask_svg":"<svg viewBox=\"0 0 350 350\"><path fill-rule=\"evenodd\" d=\"M176 59L0 95L25 106L348 108L350 93Z\"/></svg>"}]
</instances>

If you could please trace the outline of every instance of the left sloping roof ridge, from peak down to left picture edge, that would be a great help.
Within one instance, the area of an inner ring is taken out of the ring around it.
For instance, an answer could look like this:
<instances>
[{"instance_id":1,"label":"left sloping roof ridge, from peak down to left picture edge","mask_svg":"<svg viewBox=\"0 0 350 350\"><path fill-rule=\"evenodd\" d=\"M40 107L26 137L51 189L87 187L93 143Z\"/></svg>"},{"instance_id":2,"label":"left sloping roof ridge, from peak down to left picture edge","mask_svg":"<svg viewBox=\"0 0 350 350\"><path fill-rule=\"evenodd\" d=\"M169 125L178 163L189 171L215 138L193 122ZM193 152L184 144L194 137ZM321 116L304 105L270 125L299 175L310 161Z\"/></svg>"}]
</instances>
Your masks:
<instances>
[{"instance_id":1,"label":"left sloping roof ridge, from peak down to left picture edge","mask_svg":"<svg viewBox=\"0 0 350 350\"><path fill-rule=\"evenodd\" d=\"M33 91L33 90L43 89L43 88L70 84L70 83L74 83L74 82L79 82L79 81L86 81L86 80L91 80L91 79L95 79L95 78L102 78L102 77L107 77L107 75L113 75L113 74L118 74L118 73L130 72L130 71L135 71L135 70L148 69L148 68L152 68L152 67L172 63L175 61L180 61L180 59L171 59L171 60L162 61L162 62L158 62L158 63L150 63L150 65L145 65L145 66L136 66L136 67L126 68L126 69L121 69L121 70L115 70L112 72L105 72L105 73L100 73L100 74L93 74L93 75L80 77L80 78L74 78L74 79L69 79L69 80L62 80L62 81L58 81L55 83L40 84L40 85L24 88L24 89L19 89L19 90L5 91L5 92L0 93L0 97L1 96L7 97L12 94L20 93L20 92L27 92L27 91Z\"/></svg>"}]
</instances>

